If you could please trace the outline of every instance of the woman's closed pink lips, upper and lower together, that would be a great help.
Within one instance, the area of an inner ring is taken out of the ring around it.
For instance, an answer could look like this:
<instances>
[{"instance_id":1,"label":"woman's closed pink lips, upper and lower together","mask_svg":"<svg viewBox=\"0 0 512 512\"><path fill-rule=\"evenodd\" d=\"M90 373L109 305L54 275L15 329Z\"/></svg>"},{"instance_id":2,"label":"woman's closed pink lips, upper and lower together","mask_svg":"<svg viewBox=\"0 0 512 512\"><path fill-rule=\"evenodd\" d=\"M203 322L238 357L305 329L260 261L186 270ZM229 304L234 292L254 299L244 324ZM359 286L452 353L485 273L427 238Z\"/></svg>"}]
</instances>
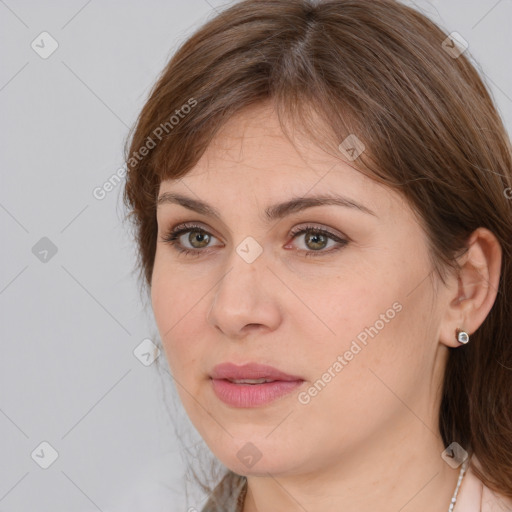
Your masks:
<instances>
[{"instance_id":1,"label":"woman's closed pink lips, upper and lower together","mask_svg":"<svg viewBox=\"0 0 512 512\"><path fill-rule=\"evenodd\" d=\"M215 366L210 374L213 391L227 405L233 407L257 407L281 398L302 385L304 379L289 375L277 368L250 363L237 366L223 363ZM270 382L236 383L244 379L266 379Z\"/></svg>"}]
</instances>

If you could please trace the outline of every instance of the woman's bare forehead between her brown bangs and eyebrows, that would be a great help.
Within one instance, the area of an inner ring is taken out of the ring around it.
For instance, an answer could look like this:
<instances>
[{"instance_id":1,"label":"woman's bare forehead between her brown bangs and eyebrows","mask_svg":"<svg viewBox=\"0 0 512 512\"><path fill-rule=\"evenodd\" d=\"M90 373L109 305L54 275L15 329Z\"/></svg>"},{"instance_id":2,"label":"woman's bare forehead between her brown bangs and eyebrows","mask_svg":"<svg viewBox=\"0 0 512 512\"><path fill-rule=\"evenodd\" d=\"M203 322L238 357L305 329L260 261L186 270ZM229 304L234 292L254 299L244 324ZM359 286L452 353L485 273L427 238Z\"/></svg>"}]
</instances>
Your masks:
<instances>
[{"instance_id":1,"label":"woman's bare forehead between her brown bangs and eyebrows","mask_svg":"<svg viewBox=\"0 0 512 512\"><path fill-rule=\"evenodd\" d=\"M343 155L328 154L303 135L290 141L269 105L233 115L182 179L161 183L160 193L168 191L188 192L219 210L228 206L226 201L251 198L264 207L291 196L329 192L389 214L407 208L397 192L365 176Z\"/></svg>"}]
</instances>

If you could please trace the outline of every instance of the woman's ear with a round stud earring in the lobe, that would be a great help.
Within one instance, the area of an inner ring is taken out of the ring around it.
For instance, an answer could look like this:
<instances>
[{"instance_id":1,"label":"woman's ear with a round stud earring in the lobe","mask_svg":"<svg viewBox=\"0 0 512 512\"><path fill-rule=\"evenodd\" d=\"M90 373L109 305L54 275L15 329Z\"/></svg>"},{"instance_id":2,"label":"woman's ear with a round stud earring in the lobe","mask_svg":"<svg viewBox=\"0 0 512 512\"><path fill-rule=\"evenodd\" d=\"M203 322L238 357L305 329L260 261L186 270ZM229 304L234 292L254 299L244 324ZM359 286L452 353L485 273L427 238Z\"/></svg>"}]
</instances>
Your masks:
<instances>
[{"instance_id":1,"label":"woman's ear with a round stud earring in the lobe","mask_svg":"<svg viewBox=\"0 0 512 512\"><path fill-rule=\"evenodd\" d=\"M468 239L467 252L459 259L460 271L450 279L448 304L440 325L439 340L460 347L456 329L473 334L491 310L501 272L502 249L496 236L486 228L476 229Z\"/></svg>"}]
</instances>

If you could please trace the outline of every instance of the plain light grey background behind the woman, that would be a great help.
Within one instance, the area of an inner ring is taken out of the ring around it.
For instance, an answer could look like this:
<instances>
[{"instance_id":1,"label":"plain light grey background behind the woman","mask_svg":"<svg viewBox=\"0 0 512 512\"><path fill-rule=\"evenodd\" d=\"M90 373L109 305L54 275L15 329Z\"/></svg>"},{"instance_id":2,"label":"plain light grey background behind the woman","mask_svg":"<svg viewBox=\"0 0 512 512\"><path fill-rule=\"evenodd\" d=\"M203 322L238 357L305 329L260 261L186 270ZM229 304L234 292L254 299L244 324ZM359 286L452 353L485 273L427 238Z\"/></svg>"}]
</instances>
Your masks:
<instances>
[{"instance_id":1,"label":"plain light grey background behind the woman","mask_svg":"<svg viewBox=\"0 0 512 512\"><path fill-rule=\"evenodd\" d=\"M406 3L469 42L511 133L512 1ZM0 512L203 504L185 497L170 417L192 428L164 401L165 357L145 366L133 352L156 330L132 273L122 183L101 200L93 190L122 166L173 51L221 5L0 0ZM44 31L58 43L46 59L31 47L51 49ZM44 441L58 453L47 469Z\"/></svg>"}]
</instances>

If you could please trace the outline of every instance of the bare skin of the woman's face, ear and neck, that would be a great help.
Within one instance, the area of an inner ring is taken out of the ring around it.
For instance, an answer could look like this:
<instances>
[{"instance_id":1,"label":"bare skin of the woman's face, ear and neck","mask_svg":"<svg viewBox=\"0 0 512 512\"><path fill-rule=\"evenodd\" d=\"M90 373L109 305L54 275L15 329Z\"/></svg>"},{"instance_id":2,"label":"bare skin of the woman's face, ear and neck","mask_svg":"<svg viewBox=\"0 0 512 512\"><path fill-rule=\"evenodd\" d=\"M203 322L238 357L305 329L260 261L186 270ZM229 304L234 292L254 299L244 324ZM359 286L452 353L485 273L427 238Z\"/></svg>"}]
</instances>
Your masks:
<instances>
[{"instance_id":1,"label":"bare skin of the woman's face, ear and neck","mask_svg":"<svg viewBox=\"0 0 512 512\"><path fill-rule=\"evenodd\" d=\"M158 207L151 298L180 398L212 452L247 475L244 512L448 510L459 469L441 458L437 427L447 347L464 350L455 329L471 335L490 311L499 243L476 230L463 271L445 286L401 196L308 140L295 146L271 108L251 107L223 126L183 179L161 184L160 194L202 200L221 215ZM329 192L375 215L323 205L264 219L272 204ZM202 251L198 256L163 241L183 222L210 234L206 241L181 235L182 246ZM339 244L290 236L310 224L349 242L329 252ZM236 252L248 236L263 249L250 264ZM304 256L308 250L315 255ZM309 403L300 403L298 392L322 378L394 303L401 310L359 343L361 350ZM305 382L271 404L237 409L215 396L209 379L226 361L272 365ZM248 442L261 453L251 468L237 457Z\"/></svg>"}]
</instances>

